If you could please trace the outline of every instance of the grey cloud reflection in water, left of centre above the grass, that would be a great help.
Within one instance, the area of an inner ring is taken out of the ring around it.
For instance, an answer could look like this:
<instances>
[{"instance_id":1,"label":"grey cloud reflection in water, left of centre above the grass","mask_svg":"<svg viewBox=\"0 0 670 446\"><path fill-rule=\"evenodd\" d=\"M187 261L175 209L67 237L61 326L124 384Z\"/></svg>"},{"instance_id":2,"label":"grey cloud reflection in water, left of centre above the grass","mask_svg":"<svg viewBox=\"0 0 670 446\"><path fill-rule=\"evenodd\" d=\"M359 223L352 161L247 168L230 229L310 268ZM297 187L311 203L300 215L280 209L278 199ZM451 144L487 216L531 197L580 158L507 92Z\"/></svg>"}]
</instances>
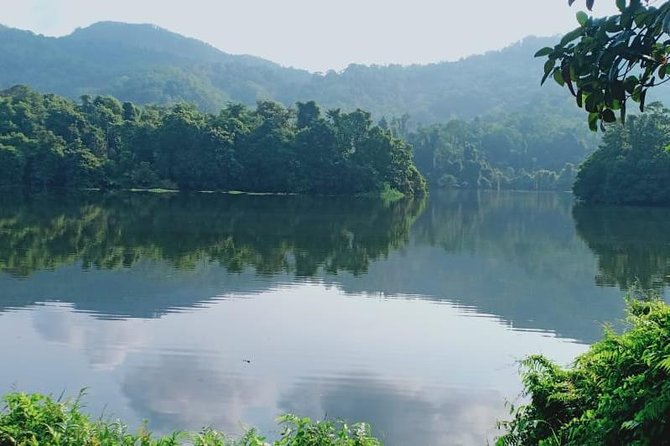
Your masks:
<instances>
[{"instance_id":1,"label":"grey cloud reflection in water, left of centre above the grass","mask_svg":"<svg viewBox=\"0 0 670 446\"><path fill-rule=\"evenodd\" d=\"M164 355L158 363L131 369L122 389L131 407L162 432L211 426L240 433L250 411L276 415L268 384L213 365L195 356Z\"/></svg>"}]
</instances>

